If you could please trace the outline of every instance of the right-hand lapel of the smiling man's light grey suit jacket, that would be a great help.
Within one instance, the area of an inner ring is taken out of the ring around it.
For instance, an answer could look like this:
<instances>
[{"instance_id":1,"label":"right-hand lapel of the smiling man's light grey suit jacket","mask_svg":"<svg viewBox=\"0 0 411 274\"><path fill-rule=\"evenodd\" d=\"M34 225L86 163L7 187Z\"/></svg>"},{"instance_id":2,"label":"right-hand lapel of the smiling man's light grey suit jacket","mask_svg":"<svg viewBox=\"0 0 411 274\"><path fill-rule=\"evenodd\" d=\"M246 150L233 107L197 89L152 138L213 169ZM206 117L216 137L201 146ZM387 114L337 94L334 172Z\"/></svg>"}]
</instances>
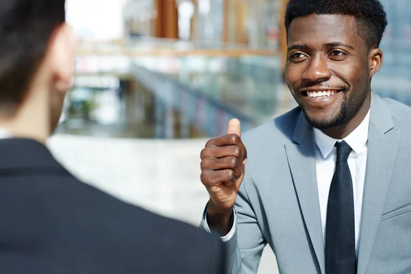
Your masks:
<instances>
[{"instance_id":1,"label":"right-hand lapel of the smiling man's light grey suit jacket","mask_svg":"<svg viewBox=\"0 0 411 274\"><path fill-rule=\"evenodd\" d=\"M375 93L372 96L358 274L365 273L371 256L393 172L400 134L400 131L393 127L388 105Z\"/></svg>"}]
</instances>

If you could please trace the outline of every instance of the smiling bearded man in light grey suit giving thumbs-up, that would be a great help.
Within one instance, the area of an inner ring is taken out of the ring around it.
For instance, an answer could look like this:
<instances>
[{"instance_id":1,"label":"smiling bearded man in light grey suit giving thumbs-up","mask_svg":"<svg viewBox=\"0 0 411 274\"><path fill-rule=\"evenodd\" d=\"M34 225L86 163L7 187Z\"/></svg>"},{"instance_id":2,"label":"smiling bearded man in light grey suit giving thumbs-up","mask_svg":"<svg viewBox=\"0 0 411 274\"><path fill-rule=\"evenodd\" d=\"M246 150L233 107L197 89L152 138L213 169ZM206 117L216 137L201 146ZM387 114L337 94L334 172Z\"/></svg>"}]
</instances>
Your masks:
<instances>
[{"instance_id":1,"label":"smiling bearded man in light grey suit giving thumbs-up","mask_svg":"<svg viewBox=\"0 0 411 274\"><path fill-rule=\"evenodd\" d=\"M387 25L378 0L290 0L286 82L299 106L201 151L202 227L229 273L257 273L268 244L280 273L411 273L411 108L382 99Z\"/></svg>"}]
</instances>

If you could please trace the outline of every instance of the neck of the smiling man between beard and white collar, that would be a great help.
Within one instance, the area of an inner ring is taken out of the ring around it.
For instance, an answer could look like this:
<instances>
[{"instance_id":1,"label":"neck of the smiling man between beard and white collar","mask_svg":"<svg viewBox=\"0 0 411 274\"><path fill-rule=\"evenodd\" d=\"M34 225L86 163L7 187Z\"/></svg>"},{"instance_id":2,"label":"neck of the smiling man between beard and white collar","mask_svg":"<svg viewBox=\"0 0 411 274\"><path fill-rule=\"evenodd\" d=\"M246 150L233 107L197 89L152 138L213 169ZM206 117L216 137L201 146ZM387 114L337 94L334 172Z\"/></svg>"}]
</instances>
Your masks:
<instances>
[{"instance_id":1,"label":"neck of the smiling man between beard and white collar","mask_svg":"<svg viewBox=\"0 0 411 274\"><path fill-rule=\"evenodd\" d=\"M325 129L322 132L327 134L329 137L334 139L342 140L343 138L349 136L351 132L354 131L361 123L364 121L366 114L368 114L371 107L371 92L368 92L364 103L362 104L360 110L346 125L343 127L336 127L332 129Z\"/></svg>"}]
</instances>

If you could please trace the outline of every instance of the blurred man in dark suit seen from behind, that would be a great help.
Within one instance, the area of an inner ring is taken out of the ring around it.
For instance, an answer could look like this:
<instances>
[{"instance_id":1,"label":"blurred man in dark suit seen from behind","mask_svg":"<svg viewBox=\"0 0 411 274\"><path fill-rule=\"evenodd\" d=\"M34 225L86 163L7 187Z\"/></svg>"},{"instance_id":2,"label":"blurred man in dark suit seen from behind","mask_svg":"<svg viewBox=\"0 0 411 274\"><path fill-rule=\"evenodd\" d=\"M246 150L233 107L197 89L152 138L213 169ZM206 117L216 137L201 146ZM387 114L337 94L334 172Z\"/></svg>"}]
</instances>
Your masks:
<instances>
[{"instance_id":1,"label":"blurred man in dark suit seen from behind","mask_svg":"<svg viewBox=\"0 0 411 274\"><path fill-rule=\"evenodd\" d=\"M73 76L64 2L0 3L0 273L222 273L219 238L79 182L45 147Z\"/></svg>"}]
</instances>

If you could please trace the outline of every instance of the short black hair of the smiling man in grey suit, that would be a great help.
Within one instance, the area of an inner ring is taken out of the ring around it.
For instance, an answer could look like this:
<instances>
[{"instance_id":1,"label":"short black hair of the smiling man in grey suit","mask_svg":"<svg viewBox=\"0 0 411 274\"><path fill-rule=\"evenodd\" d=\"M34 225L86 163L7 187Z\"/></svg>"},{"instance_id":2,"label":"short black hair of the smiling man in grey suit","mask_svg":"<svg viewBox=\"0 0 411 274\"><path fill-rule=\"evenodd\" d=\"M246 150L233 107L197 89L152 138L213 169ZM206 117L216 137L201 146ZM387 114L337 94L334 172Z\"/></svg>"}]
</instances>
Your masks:
<instances>
[{"instance_id":1,"label":"short black hair of the smiling man in grey suit","mask_svg":"<svg viewBox=\"0 0 411 274\"><path fill-rule=\"evenodd\" d=\"M287 34L292 20L311 14L353 16L369 49L379 47L388 24L384 6L379 0L290 0L285 16Z\"/></svg>"}]
</instances>

